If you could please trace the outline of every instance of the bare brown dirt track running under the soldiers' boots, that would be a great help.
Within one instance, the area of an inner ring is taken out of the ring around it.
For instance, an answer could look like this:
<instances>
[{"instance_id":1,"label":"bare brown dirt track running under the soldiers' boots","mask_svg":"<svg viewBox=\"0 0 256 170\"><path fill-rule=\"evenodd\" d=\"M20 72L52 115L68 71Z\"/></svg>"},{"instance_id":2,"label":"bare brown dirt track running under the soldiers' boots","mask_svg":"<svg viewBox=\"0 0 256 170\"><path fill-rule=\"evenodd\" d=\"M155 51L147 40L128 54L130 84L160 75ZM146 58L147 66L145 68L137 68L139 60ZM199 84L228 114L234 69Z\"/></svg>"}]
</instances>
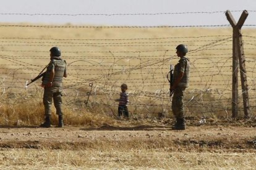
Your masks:
<instances>
[{"instance_id":1,"label":"bare brown dirt track running under the soldiers' boots","mask_svg":"<svg viewBox=\"0 0 256 170\"><path fill-rule=\"evenodd\" d=\"M41 128L0 126L0 148L170 148L177 151L256 152L255 126L203 124L173 131L168 124Z\"/></svg>"}]
</instances>

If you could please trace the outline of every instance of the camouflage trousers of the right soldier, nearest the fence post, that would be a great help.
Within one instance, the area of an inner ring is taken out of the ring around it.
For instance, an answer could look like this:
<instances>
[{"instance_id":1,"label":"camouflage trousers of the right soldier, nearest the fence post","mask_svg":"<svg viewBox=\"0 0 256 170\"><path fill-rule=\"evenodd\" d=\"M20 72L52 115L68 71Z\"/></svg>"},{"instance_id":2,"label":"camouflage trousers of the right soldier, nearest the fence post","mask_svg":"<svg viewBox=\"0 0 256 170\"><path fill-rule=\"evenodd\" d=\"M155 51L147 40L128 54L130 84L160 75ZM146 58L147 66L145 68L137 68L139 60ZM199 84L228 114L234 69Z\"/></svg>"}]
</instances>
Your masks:
<instances>
[{"instance_id":1,"label":"camouflage trousers of the right soldier, nearest the fence post","mask_svg":"<svg viewBox=\"0 0 256 170\"><path fill-rule=\"evenodd\" d=\"M176 119L184 118L183 97L186 87L177 87L173 94L171 109Z\"/></svg>"}]
</instances>

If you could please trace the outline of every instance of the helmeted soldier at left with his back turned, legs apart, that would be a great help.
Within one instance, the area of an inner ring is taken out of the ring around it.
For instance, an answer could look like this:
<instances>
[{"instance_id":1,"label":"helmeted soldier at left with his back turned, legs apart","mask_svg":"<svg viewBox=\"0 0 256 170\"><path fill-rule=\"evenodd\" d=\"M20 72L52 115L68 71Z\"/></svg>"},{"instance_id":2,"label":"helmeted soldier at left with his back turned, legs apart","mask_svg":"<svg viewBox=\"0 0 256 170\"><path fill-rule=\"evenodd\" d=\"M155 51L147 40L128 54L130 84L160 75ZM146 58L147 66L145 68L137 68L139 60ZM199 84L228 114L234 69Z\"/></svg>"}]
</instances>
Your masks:
<instances>
[{"instance_id":1,"label":"helmeted soldier at left with his back turned, legs apart","mask_svg":"<svg viewBox=\"0 0 256 170\"><path fill-rule=\"evenodd\" d=\"M50 49L51 62L49 62L46 74L43 77L42 87L45 88L43 94L43 104L45 105L45 123L40 127L51 127L51 103L52 99L56 114L59 116L58 127L63 127L63 113L61 110L62 99L62 79L67 77L66 61L61 59L61 51L58 47Z\"/></svg>"}]
</instances>

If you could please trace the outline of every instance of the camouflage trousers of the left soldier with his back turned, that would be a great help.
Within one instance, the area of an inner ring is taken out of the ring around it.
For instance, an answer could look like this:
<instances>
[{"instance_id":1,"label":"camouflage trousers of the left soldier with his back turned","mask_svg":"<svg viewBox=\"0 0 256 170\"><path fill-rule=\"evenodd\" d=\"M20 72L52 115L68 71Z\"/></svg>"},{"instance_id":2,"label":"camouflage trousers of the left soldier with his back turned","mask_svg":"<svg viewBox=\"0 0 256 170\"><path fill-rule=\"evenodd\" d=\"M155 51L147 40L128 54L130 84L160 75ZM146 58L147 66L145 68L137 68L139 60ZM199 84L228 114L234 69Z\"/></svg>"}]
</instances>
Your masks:
<instances>
[{"instance_id":1,"label":"camouflage trousers of the left soldier with his back turned","mask_svg":"<svg viewBox=\"0 0 256 170\"><path fill-rule=\"evenodd\" d=\"M56 114L62 116L62 99L61 99L61 87L47 87L43 93L43 105L45 106L45 116L51 116L51 103L52 99L54 107L56 108Z\"/></svg>"}]
</instances>

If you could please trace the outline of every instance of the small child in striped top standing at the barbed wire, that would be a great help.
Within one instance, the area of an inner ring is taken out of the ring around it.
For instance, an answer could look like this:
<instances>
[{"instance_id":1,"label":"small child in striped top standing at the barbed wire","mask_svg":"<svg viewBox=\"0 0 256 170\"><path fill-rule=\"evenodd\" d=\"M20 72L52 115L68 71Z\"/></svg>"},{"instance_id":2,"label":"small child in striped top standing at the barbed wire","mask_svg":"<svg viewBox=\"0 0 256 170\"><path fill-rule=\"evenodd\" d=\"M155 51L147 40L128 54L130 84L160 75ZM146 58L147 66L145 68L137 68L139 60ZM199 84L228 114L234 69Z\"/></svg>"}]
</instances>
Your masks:
<instances>
[{"instance_id":1,"label":"small child in striped top standing at the barbed wire","mask_svg":"<svg viewBox=\"0 0 256 170\"><path fill-rule=\"evenodd\" d=\"M128 118L129 117L129 112L127 109L127 103L129 102L128 99L128 94L127 94L127 84L122 84L121 85L121 93L120 93L120 99L116 99L116 102L119 102L118 105L118 116L124 115L124 117Z\"/></svg>"}]
</instances>

